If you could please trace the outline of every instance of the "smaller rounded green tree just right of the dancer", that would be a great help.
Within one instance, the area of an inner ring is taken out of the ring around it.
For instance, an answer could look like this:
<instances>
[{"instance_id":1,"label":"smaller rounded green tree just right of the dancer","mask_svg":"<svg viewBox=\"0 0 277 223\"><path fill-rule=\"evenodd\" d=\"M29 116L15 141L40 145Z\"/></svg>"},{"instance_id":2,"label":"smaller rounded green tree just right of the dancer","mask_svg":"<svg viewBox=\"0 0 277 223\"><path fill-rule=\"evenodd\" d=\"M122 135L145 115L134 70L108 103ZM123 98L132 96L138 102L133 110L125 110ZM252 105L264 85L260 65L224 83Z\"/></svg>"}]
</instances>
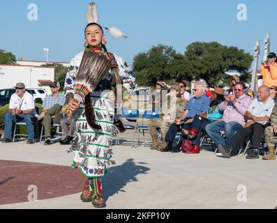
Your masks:
<instances>
[{"instance_id":1,"label":"smaller rounded green tree just right of the dancer","mask_svg":"<svg viewBox=\"0 0 277 223\"><path fill-rule=\"evenodd\" d=\"M183 60L183 56L166 45L154 46L146 53L137 54L133 61L137 83L154 86L157 80L167 81L177 77L180 70L178 60Z\"/></svg>"}]
</instances>

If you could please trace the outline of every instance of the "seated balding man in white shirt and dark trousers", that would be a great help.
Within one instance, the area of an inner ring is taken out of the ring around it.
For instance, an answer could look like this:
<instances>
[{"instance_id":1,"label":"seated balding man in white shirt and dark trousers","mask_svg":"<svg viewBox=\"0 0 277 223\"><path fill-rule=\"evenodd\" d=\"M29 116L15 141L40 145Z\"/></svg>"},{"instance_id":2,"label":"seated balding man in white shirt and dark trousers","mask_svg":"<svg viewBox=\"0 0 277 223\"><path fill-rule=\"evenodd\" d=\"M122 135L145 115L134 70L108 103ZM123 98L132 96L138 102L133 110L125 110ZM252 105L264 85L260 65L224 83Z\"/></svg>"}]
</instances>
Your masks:
<instances>
[{"instance_id":1,"label":"seated balding man in white shirt and dark trousers","mask_svg":"<svg viewBox=\"0 0 277 223\"><path fill-rule=\"evenodd\" d=\"M264 135L264 129L268 126L267 124L273 108L274 100L269 96L269 87L265 85L260 86L257 91L257 98L251 102L245 114L248 122L244 126L244 129L234 134L230 147L218 145L218 150L222 153L223 157L230 158L232 152L232 154L236 154L247 137L250 137L252 149L246 158L258 159L260 142Z\"/></svg>"}]
</instances>

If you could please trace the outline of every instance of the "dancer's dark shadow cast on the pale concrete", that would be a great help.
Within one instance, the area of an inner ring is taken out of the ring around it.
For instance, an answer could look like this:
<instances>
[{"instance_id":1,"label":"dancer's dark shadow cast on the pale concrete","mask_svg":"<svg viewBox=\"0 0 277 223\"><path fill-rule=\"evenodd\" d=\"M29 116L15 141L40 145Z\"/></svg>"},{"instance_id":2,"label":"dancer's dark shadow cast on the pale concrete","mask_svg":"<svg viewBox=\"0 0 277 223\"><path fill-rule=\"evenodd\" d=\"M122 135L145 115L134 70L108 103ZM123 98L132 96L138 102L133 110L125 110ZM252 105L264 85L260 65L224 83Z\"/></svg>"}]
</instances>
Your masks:
<instances>
[{"instance_id":1,"label":"dancer's dark shadow cast on the pale concrete","mask_svg":"<svg viewBox=\"0 0 277 223\"><path fill-rule=\"evenodd\" d=\"M139 162L138 164L147 164ZM105 201L119 192L126 192L124 187L131 182L137 182L137 175L148 174L150 169L137 165L133 159L126 160L119 167L111 167L103 178L103 195Z\"/></svg>"}]
</instances>

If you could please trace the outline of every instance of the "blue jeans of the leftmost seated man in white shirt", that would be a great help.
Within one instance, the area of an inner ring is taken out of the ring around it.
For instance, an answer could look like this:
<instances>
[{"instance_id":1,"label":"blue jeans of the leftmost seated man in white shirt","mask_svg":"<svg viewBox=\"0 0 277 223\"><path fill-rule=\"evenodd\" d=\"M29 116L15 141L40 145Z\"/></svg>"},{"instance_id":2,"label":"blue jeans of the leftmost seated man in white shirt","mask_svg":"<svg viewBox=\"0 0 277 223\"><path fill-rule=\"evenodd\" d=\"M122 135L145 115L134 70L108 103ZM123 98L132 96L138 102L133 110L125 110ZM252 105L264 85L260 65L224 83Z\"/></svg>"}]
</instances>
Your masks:
<instances>
[{"instance_id":1,"label":"blue jeans of the leftmost seated man in white shirt","mask_svg":"<svg viewBox=\"0 0 277 223\"><path fill-rule=\"evenodd\" d=\"M33 114L27 114L24 118L20 118L20 116L13 116L10 112L7 112L5 114L5 138L12 139L13 123L24 121L27 125L28 139L34 140L35 134L33 132L33 123L30 121L31 117L33 117Z\"/></svg>"}]
</instances>

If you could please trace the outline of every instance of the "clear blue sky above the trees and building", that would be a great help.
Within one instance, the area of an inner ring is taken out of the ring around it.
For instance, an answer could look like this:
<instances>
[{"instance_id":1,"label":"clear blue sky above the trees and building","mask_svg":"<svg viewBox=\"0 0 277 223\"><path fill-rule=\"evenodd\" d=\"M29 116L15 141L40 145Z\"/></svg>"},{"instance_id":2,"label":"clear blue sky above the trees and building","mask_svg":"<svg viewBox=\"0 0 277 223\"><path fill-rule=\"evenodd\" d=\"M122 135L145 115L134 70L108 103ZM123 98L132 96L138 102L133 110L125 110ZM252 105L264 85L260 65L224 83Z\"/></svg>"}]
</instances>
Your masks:
<instances>
[{"instance_id":1,"label":"clear blue sky above the trees and building","mask_svg":"<svg viewBox=\"0 0 277 223\"><path fill-rule=\"evenodd\" d=\"M44 47L50 48L50 61L70 61L84 44L84 18L91 1L10 0L1 1L0 49L17 58L45 61ZM28 20L28 6L38 6L38 21ZM107 37L107 48L130 65L139 52L159 43L184 53L194 41L217 41L234 45L253 54L260 40L271 33L271 51L277 50L276 9L274 0L100 0L100 24L118 26L128 39ZM237 6L245 3L247 20L237 20Z\"/></svg>"}]
</instances>

